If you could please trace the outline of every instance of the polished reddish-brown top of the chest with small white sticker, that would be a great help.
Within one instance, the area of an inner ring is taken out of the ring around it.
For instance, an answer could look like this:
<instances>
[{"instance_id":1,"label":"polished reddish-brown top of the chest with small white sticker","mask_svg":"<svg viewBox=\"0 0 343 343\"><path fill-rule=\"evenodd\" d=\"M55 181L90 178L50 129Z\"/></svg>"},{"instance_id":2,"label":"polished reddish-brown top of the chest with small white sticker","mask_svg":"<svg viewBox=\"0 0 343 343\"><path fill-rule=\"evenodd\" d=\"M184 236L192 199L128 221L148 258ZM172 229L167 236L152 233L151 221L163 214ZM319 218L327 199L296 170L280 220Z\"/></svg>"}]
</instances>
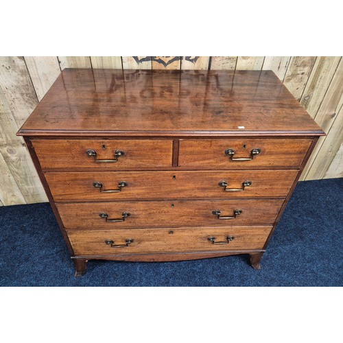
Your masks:
<instances>
[{"instance_id":1,"label":"polished reddish-brown top of the chest with small white sticker","mask_svg":"<svg viewBox=\"0 0 343 343\"><path fill-rule=\"evenodd\" d=\"M272 71L64 69L19 135L320 135Z\"/></svg>"}]
</instances>

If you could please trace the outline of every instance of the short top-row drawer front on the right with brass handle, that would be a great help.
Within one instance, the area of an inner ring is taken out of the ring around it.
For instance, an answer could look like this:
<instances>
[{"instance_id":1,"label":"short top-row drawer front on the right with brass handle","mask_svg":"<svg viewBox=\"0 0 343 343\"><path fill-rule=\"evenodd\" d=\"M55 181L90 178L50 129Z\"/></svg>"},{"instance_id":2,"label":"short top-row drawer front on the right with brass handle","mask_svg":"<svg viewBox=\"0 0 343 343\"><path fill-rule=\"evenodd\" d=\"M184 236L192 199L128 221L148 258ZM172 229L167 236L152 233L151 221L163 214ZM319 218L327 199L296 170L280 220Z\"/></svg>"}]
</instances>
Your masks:
<instances>
[{"instance_id":1,"label":"short top-row drawer front on the right with brass handle","mask_svg":"<svg viewBox=\"0 0 343 343\"><path fill-rule=\"evenodd\" d=\"M180 140L178 165L202 169L298 168L311 139Z\"/></svg>"}]
</instances>

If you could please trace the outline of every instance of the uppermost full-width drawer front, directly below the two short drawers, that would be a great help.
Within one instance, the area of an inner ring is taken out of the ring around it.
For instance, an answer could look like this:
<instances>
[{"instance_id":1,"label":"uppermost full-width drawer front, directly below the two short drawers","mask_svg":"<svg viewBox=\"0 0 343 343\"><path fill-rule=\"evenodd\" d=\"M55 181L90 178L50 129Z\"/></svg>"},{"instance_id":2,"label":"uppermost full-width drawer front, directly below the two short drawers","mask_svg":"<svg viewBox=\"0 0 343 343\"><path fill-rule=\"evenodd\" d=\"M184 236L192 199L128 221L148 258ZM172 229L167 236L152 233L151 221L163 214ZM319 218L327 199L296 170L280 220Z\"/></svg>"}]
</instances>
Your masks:
<instances>
[{"instance_id":1,"label":"uppermost full-width drawer front, directly below the two short drawers","mask_svg":"<svg viewBox=\"0 0 343 343\"><path fill-rule=\"evenodd\" d=\"M297 170L48 172L54 200L285 197Z\"/></svg>"}]
</instances>

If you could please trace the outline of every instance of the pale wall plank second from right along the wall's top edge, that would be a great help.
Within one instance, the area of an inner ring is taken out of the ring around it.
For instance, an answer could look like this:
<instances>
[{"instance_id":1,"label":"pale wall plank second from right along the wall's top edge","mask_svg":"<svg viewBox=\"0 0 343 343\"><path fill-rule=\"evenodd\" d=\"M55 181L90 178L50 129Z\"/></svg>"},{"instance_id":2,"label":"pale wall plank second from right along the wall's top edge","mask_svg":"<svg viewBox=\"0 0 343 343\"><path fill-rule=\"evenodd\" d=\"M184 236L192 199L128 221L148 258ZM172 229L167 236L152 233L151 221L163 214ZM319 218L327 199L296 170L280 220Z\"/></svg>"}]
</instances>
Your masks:
<instances>
[{"instance_id":1,"label":"pale wall plank second from right along the wall's top edge","mask_svg":"<svg viewBox=\"0 0 343 343\"><path fill-rule=\"evenodd\" d=\"M303 95L304 88L316 62L316 57L294 57L292 56L285 74L283 84L288 91L299 101Z\"/></svg>"}]
</instances>

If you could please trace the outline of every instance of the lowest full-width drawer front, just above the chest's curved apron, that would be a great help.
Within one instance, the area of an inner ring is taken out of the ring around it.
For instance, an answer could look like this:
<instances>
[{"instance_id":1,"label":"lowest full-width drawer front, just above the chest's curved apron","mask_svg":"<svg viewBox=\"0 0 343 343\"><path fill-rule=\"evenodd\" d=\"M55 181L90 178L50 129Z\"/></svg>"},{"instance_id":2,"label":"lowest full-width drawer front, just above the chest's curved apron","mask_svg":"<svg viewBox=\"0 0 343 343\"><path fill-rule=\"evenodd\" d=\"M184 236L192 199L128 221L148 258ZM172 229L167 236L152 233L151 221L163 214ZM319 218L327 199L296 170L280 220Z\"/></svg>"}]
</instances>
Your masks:
<instances>
[{"instance_id":1,"label":"lowest full-width drawer front, just above the chest's curved apron","mask_svg":"<svg viewBox=\"0 0 343 343\"><path fill-rule=\"evenodd\" d=\"M262 249L271 226L71 230L75 255Z\"/></svg>"}]
</instances>

